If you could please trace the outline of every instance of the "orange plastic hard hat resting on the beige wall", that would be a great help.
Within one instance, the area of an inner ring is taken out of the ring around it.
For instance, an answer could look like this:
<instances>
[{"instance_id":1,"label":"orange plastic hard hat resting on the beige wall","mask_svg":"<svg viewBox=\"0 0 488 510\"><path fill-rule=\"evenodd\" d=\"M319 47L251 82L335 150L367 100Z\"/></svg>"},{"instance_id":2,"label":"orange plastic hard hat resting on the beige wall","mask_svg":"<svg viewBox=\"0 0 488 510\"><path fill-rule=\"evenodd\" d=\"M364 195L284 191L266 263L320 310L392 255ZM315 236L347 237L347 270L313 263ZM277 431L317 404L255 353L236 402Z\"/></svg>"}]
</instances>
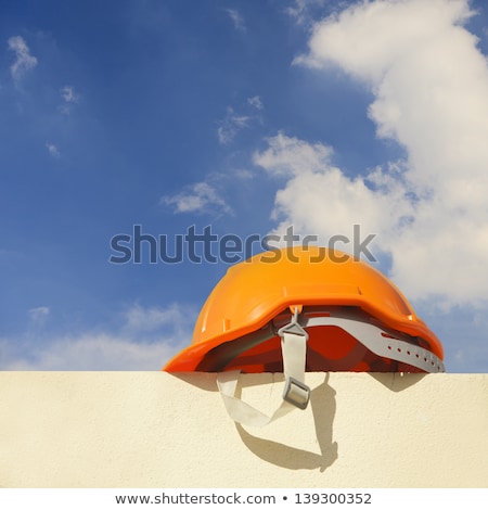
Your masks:
<instances>
[{"instance_id":1,"label":"orange plastic hard hat resting on the beige wall","mask_svg":"<svg viewBox=\"0 0 488 510\"><path fill-rule=\"evenodd\" d=\"M164 370L282 371L278 328L290 310L308 333L307 371L444 371L439 340L401 292L369 264L319 246L264 252L230 267L192 344ZM370 342L367 327L378 331Z\"/></svg>"}]
</instances>

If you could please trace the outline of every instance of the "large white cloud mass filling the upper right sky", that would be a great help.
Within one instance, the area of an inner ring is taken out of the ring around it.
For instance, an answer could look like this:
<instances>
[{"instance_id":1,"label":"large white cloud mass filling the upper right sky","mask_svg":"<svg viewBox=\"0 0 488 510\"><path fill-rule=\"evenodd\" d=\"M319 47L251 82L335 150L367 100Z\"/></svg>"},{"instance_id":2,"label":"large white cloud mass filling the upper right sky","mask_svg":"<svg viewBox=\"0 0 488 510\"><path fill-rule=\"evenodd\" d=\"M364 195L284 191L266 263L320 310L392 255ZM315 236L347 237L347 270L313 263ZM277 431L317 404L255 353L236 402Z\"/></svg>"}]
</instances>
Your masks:
<instances>
[{"instance_id":1,"label":"large white cloud mass filling the upper right sky","mask_svg":"<svg viewBox=\"0 0 488 510\"><path fill-rule=\"evenodd\" d=\"M464 0L360 2L317 23L297 60L368 87L377 135L402 145L404 162L351 179L329 148L284 135L255 155L288 179L280 227L331 235L361 224L410 298L447 305L487 301L488 66L462 26L471 15Z\"/></svg>"}]
</instances>

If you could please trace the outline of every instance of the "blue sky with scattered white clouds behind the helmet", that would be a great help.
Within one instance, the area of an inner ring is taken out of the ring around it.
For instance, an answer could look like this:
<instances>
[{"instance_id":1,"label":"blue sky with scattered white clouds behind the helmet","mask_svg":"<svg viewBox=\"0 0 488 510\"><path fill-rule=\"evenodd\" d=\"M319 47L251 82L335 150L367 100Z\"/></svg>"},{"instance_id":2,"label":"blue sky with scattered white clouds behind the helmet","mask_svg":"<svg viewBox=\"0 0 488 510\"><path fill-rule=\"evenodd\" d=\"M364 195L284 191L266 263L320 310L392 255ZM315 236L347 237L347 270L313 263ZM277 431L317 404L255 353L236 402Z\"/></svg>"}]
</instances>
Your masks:
<instances>
[{"instance_id":1,"label":"blue sky with scattered white clouds behind the helmet","mask_svg":"<svg viewBox=\"0 0 488 510\"><path fill-rule=\"evenodd\" d=\"M188 345L229 264L111 263L137 225L169 246L360 225L448 371L488 371L484 2L0 14L1 369L157 370Z\"/></svg>"}]
</instances>

